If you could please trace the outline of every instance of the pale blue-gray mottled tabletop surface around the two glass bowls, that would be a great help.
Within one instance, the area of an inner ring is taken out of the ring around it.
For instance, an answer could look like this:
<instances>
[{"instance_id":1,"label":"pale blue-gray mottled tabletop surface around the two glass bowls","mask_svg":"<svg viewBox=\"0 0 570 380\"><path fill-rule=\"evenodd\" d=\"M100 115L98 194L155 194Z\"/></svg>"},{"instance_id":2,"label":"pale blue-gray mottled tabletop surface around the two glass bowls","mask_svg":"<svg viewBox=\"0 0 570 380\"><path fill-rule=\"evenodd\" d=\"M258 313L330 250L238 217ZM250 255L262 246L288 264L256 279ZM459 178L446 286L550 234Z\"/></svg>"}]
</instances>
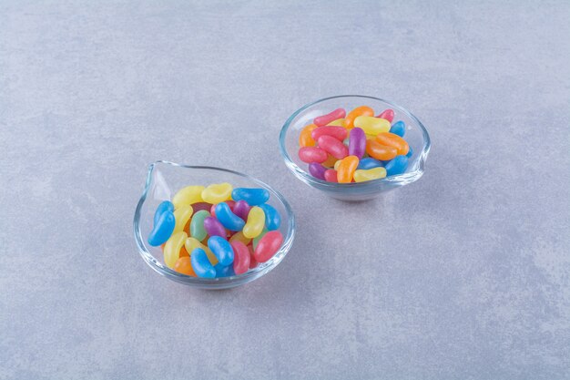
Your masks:
<instances>
[{"instance_id":1,"label":"pale blue-gray mottled tabletop surface around the two glass bowls","mask_svg":"<svg viewBox=\"0 0 570 380\"><path fill-rule=\"evenodd\" d=\"M570 377L570 6L0 3L0 378ZM419 182L345 204L277 149L359 93L429 128ZM299 233L201 292L138 256L156 159L248 172Z\"/></svg>"}]
</instances>

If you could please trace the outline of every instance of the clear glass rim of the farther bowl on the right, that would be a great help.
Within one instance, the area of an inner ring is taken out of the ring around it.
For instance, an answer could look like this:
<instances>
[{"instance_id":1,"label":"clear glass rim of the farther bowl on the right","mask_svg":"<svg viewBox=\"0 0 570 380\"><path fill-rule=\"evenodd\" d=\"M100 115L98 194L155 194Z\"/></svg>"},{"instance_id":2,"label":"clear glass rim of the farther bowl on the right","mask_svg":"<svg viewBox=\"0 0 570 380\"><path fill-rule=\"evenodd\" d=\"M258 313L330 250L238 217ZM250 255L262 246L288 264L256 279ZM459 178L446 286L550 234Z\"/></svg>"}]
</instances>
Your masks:
<instances>
[{"instance_id":1,"label":"clear glass rim of the farther bowl on the right","mask_svg":"<svg viewBox=\"0 0 570 380\"><path fill-rule=\"evenodd\" d=\"M364 181L364 182L351 182L351 183L337 183L337 182L329 182L326 180L320 180L318 178L311 176L310 173L307 172L306 170L301 169L300 166L297 165L290 158L290 155L287 152L287 149L285 148L285 139L287 138L287 133L289 132L290 124L295 118L297 118L300 115L300 113L302 113L306 109L308 109L314 105L317 105L321 102L324 102L326 100L331 100L331 99L336 99L336 98L366 98L366 99L381 101L381 102L387 104L388 106L390 106L392 108L396 108L397 110L401 111L404 115L408 116L409 118L412 118L412 121L417 123L417 125L422 130L422 137L423 137L423 146L422 146L422 151L419 152L417 169L415 169L413 171L407 171L405 173L398 174L395 176L385 177L385 178L378 179L378 180L368 180L368 181ZM287 121L285 121L285 124L283 124L283 127L280 130L279 145L280 145L281 157L285 161L285 164L287 165L287 167L300 180L303 180L306 183L309 183L311 186L316 185L316 186L319 186L321 188L329 188L331 190L348 190L348 189L362 190L362 189L369 189L371 187L375 187L376 185L382 185L384 183L390 183L390 182L411 183L415 180L419 180L423 175L425 160L427 159L428 153L430 152L432 142L430 139L430 135L427 131L427 128L425 128L425 126L422 124L420 119L416 118L412 114L412 112L410 112L408 109L403 108L402 106L399 106L396 103L393 103L389 100L384 100L382 98L375 98L375 97L371 97L371 96L367 96L367 95L337 95L334 97L321 98L319 100L313 101L313 102L306 104L305 106L297 109L295 112L293 112L293 114L287 119Z\"/></svg>"}]
</instances>

